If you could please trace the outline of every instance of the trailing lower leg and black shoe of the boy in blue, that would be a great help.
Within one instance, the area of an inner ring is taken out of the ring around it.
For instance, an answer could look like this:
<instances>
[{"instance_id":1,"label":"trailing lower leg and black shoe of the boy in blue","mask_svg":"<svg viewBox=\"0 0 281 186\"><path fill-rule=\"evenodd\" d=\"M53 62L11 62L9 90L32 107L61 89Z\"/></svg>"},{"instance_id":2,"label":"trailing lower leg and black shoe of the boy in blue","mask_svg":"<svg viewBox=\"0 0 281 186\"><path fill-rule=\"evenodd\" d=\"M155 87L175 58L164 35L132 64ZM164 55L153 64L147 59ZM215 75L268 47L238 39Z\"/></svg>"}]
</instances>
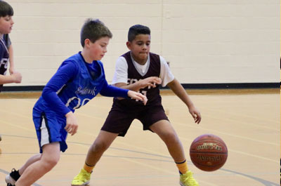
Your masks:
<instances>
[{"instance_id":1,"label":"trailing lower leg and black shoe of the boy in blue","mask_svg":"<svg viewBox=\"0 0 281 186\"><path fill-rule=\"evenodd\" d=\"M15 182L20 178L20 175L22 175L22 173L25 171L25 169L34 162L39 161L39 159L41 159L41 154L35 154L34 156L30 157L30 159L28 159L18 171L15 171L15 169L13 168L11 173L6 175L6 183L11 183L11 185L14 185Z\"/></svg>"}]
</instances>

